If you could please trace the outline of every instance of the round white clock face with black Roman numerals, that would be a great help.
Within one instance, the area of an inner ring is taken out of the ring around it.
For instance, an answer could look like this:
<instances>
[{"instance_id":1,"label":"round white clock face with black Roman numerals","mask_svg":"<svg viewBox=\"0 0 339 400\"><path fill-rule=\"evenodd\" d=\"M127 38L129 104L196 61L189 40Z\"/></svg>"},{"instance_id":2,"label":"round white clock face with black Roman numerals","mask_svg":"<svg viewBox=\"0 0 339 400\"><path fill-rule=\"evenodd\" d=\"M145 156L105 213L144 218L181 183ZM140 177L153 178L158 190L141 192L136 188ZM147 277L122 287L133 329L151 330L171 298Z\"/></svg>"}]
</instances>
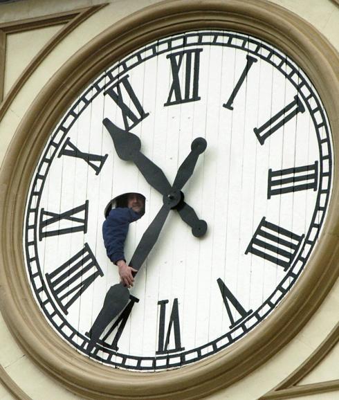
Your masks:
<instances>
[{"instance_id":1,"label":"round white clock face with black Roman numerals","mask_svg":"<svg viewBox=\"0 0 339 400\"><path fill-rule=\"evenodd\" d=\"M195 138L205 152L183 187L206 221L195 237L171 210L127 307L89 352L104 296L119 282L102 239L104 208L146 197L127 260L163 206L103 120L141 141L171 185ZM225 31L159 39L107 66L59 118L26 204L24 252L37 304L84 356L129 370L199 361L249 334L288 296L331 194L331 132L303 71L266 42Z\"/></svg>"}]
</instances>

